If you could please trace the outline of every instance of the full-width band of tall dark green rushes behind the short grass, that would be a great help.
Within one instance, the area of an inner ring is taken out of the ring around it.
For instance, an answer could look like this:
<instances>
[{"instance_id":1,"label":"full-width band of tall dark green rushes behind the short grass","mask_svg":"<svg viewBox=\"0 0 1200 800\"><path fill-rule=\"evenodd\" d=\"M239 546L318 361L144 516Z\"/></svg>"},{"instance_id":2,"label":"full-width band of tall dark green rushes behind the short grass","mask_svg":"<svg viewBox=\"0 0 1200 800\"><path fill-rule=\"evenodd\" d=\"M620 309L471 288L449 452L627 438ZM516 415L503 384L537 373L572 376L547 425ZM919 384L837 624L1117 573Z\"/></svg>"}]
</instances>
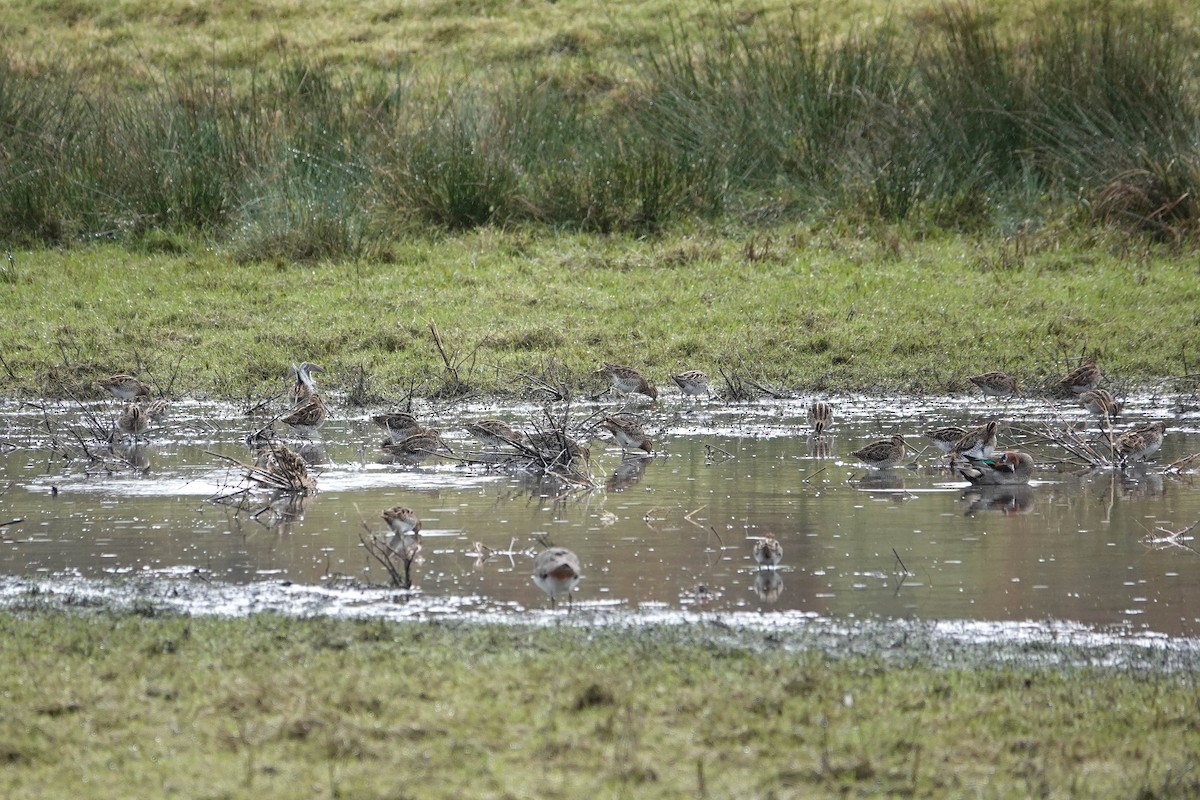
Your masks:
<instances>
[{"instance_id":1,"label":"full-width band of tall dark green rushes behind the short grass","mask_svg":"<svg viewBox=\"0 0 1200 800\"><path fill-rule=\"evenodd\" d=\"M836 215L1006 229L1195 227L1200 82L1168 6L950 2L853 35L677 22L632 76L218 64L149 88L0 60L0 239L187 230L244 260L374 257L397 233L542 223L653 233ZM575 50L570 52L572 55Z\"/></svg>"}]
</instances>

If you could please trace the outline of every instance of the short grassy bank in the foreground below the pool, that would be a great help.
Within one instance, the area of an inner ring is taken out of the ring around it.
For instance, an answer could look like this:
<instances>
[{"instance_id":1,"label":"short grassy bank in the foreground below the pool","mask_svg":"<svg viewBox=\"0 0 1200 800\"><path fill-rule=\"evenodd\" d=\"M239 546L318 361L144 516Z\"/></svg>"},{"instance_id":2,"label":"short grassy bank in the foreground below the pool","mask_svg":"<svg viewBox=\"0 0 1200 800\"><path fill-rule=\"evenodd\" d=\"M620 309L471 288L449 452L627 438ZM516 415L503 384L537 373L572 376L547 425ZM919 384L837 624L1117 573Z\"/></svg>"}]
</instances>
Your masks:
<instances>
[{"instance_id":1,"label":"short grassy bank in the foreground below the pool","mask_svg":"<svg viewBox=\"0 0 1200 800\"><path fill-rule=\"evenodd\" d=\"M694 628L6 612L0 633L11 800L1200 792L1190 670L896 666Z\"/></svg>"}]
</instances>

